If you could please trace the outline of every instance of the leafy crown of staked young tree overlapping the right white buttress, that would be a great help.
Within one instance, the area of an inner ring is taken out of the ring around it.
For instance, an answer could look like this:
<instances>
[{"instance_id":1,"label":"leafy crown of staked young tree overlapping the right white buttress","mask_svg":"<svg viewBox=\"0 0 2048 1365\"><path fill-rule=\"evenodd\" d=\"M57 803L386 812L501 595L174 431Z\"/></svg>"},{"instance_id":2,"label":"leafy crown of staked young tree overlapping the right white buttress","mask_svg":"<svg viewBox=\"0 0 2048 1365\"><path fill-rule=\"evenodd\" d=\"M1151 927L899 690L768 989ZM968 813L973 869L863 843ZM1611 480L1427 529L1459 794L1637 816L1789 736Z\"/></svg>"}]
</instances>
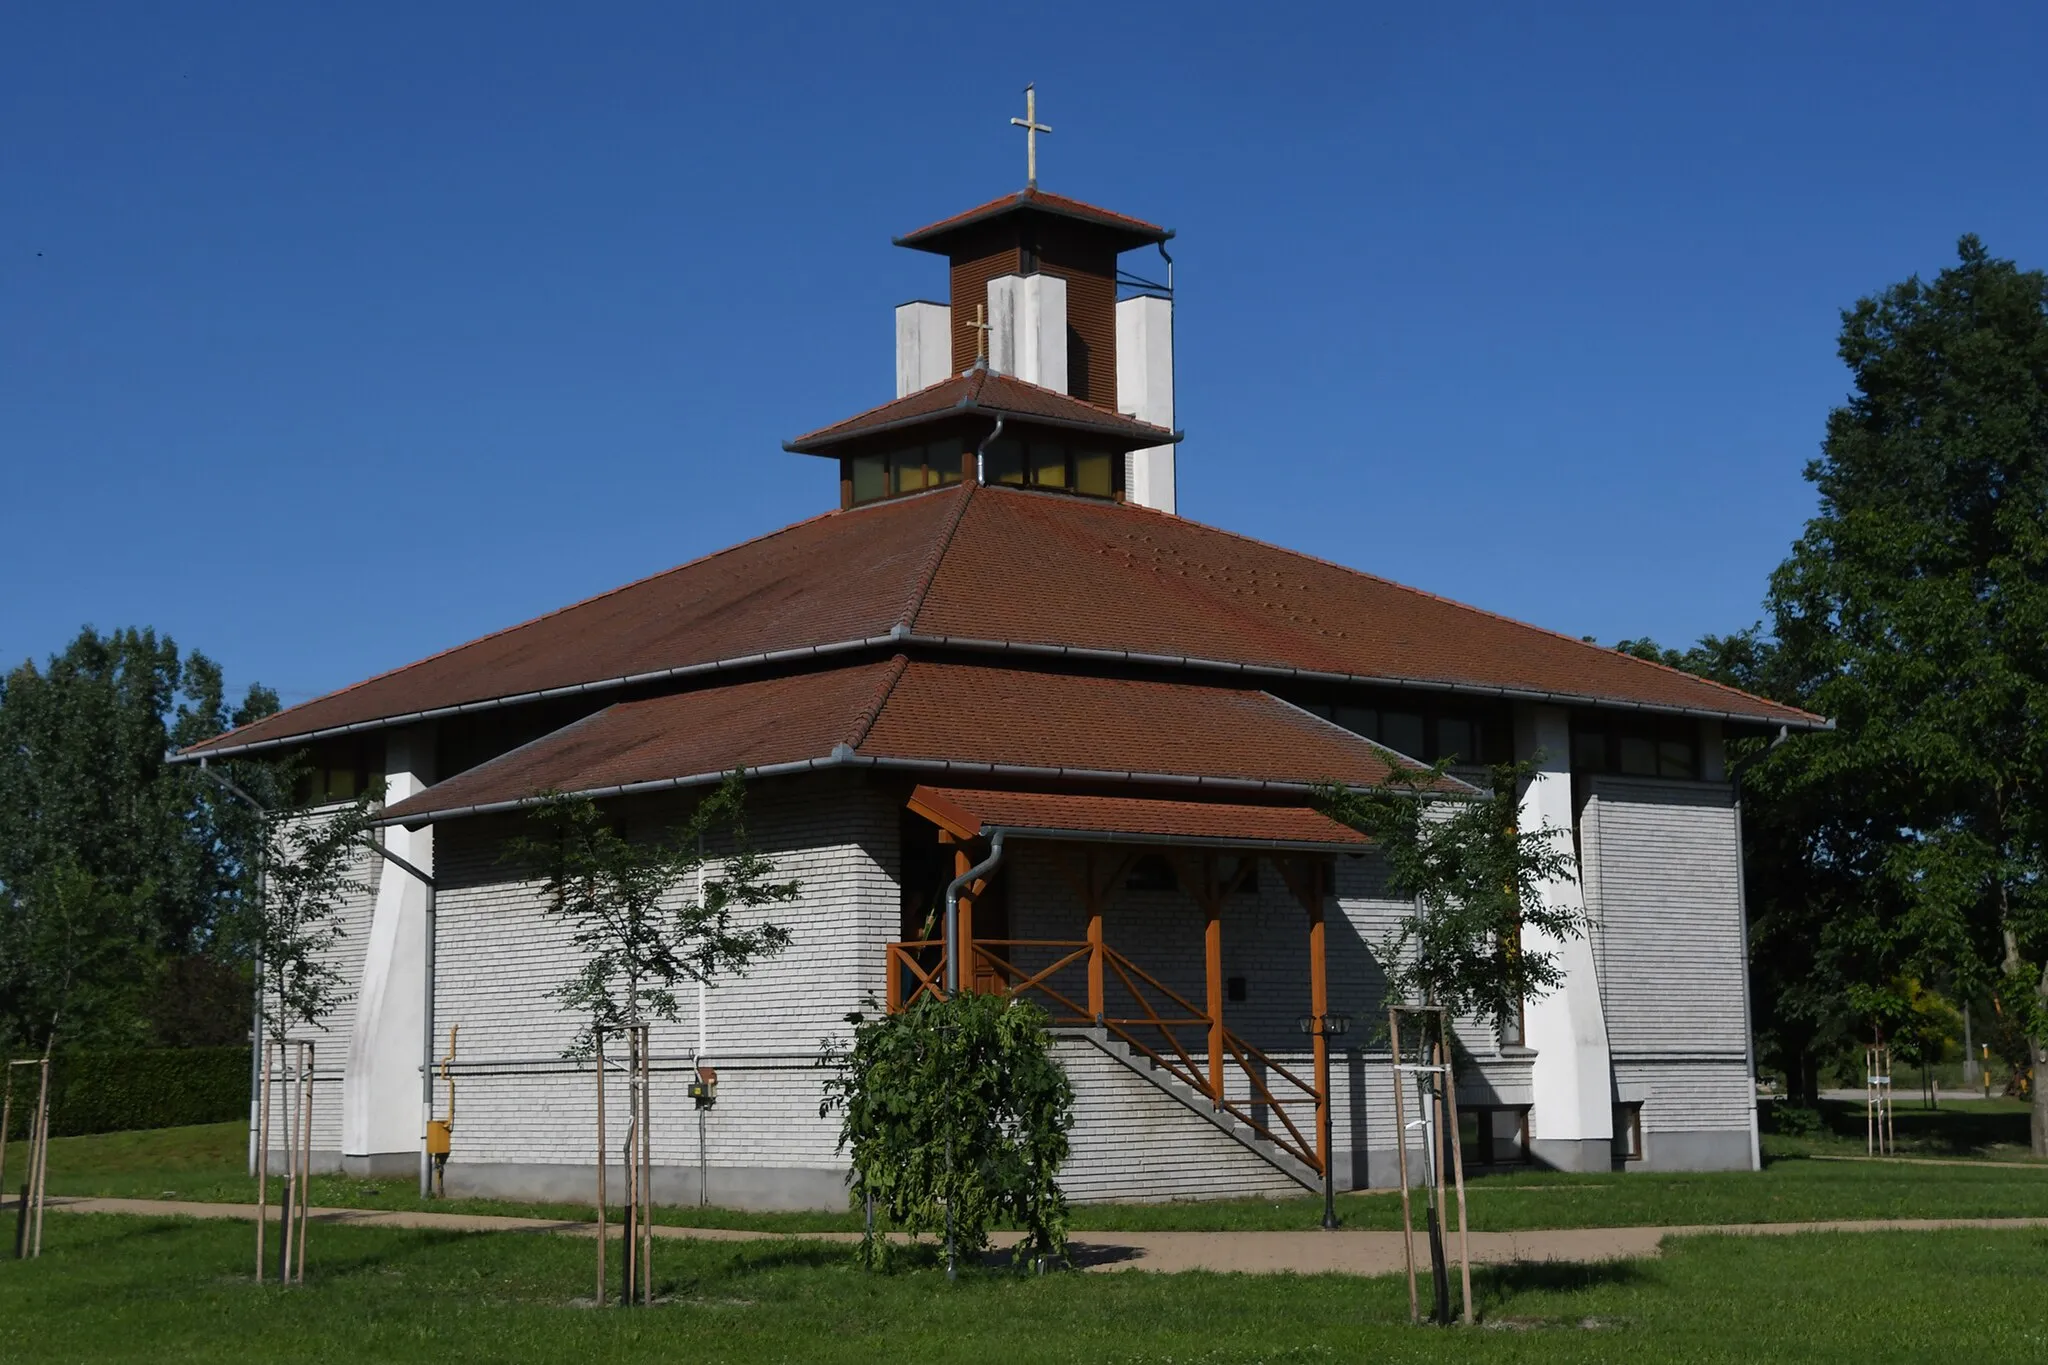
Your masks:
<instances>
[{"instance_id":1,"label":"leafy crown of staked young tree overlapping the right white buttress","mask_svg":"<svg viewBox=\"0 0 2048 1365\"><path fill-rule=\"evenodd\" d=\"M1559 956L1524 941L1524 931L1561 943L1585 933L1579 911L1542 894L1544 882L1571 882L1575 870L1569 831L1522 829L1532 774L1532 763L1503 763L1477 798L1434 790L1442 763L1395 769L1380 790L1317 790L1325 814L1372 837L1389 888L1415 900L1378 954L1399 999L1499 1027L1522 1001L1563 982Z\"/></svg>"}]
</instances>

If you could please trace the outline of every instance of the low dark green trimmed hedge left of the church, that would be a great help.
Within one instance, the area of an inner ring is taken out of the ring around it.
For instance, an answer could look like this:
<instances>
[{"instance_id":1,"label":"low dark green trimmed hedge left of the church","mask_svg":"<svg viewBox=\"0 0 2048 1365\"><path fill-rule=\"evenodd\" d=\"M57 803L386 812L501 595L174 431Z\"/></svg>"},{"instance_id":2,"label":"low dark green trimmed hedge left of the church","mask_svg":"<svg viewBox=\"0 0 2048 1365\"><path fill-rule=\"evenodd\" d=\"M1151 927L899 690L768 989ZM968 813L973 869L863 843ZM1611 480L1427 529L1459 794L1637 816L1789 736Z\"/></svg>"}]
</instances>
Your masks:
<instances>
[{"instance_id":1,"label":"low dark green trimmed hedge left of the church","mask_svg":"<svg viewBox=\"0 0 2048 1365\"><path fill-rule=\"evenodd\" d=\"M223 1124L250 1111L248 1046L78 1048L59 1052L49 1072L49 1132L59 1138ZM10 1138L27 1136L33 1107L35 1068L18 1066Z\"/></svg>"}]
</instances>

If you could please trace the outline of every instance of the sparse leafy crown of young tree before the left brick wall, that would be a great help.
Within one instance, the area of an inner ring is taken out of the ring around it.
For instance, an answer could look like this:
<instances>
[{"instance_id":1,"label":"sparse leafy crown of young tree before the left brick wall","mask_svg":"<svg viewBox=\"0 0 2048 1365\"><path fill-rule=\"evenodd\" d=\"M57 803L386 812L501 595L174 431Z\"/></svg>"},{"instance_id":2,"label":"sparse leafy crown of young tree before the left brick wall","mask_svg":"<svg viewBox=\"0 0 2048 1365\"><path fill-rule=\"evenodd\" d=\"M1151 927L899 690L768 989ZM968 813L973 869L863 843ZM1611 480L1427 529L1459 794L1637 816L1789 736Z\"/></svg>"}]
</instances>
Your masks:
<instances>
[{"instance_id":1,"label":"sparse leafy crown of young tree before the left brick wall","mask_svg":"<svg viewBox=\"0 0 2048 1365\"><path fill-rule=\"evenodd\" d=\"M571 927L584 966L549 995L588 1019L571 1052L594 1046L596 1031L629 1021L674 1019L676 986L743 974L756 960L788 945L772 923L741 925L772 905L797 898L797 882L776 882L774 862L745 831L745 776L733 772L666 837L629 839L586 796L551 796L532 810L539 835L512 841L508 857L543 882L549 915ZM705 868L707 841L723 839L717 876L696 898L678 890Z\"/></svg>"}]
</instances>

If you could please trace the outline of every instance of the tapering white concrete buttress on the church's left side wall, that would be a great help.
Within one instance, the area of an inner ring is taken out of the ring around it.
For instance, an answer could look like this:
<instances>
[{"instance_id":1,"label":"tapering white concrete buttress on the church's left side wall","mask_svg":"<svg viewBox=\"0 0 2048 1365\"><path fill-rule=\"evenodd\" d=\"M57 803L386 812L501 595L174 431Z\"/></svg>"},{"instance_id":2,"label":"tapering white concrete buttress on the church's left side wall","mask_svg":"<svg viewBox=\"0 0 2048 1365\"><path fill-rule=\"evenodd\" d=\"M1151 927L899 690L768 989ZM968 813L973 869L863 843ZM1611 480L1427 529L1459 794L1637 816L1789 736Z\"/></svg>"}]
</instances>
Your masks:
<instances>
[{"instance_id":1,"label":"tapering white concrete buttress on the church's left side wall","mask_svg":"<svg viewBox=\"0 0 2048 1365\"><path fill-rule=\"evenodd\" d=\"M391 731L385 741L385 802L434 780L434 731ZM432 876L434 831L393 825L385 847ZM377 911L356 988L342 1076L342 1162L358 1175L416 1169L420 1156L420 1036L426 1027L426 886L379 857ZM391 1166L387 1171L387 1166Z\"/></svg>"}]
</instances>

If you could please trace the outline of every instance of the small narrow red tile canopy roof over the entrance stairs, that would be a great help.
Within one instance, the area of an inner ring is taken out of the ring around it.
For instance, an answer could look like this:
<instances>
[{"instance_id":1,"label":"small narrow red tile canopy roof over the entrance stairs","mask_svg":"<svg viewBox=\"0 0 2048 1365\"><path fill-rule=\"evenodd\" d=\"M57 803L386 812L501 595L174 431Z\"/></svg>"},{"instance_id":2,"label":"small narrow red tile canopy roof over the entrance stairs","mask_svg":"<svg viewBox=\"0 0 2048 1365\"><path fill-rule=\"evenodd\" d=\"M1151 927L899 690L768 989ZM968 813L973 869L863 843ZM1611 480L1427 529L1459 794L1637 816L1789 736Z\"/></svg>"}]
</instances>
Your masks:
<instances>
[{"instance_id":1,"label":"small narrow red tile canopy roof over the entrance stairs","mask_svg":"<svg viewBox=\"0 0 2048 1365\"><path fill-rule=\"evenodd\" d=\"M1214 800L1090 796L1073 792L989 792L920 786L911 808L958 835L995 829L1133 841L1309 845L1360 849L1368 839L1311 806L1251 806Z\"/></svg>"}]
</instances>

